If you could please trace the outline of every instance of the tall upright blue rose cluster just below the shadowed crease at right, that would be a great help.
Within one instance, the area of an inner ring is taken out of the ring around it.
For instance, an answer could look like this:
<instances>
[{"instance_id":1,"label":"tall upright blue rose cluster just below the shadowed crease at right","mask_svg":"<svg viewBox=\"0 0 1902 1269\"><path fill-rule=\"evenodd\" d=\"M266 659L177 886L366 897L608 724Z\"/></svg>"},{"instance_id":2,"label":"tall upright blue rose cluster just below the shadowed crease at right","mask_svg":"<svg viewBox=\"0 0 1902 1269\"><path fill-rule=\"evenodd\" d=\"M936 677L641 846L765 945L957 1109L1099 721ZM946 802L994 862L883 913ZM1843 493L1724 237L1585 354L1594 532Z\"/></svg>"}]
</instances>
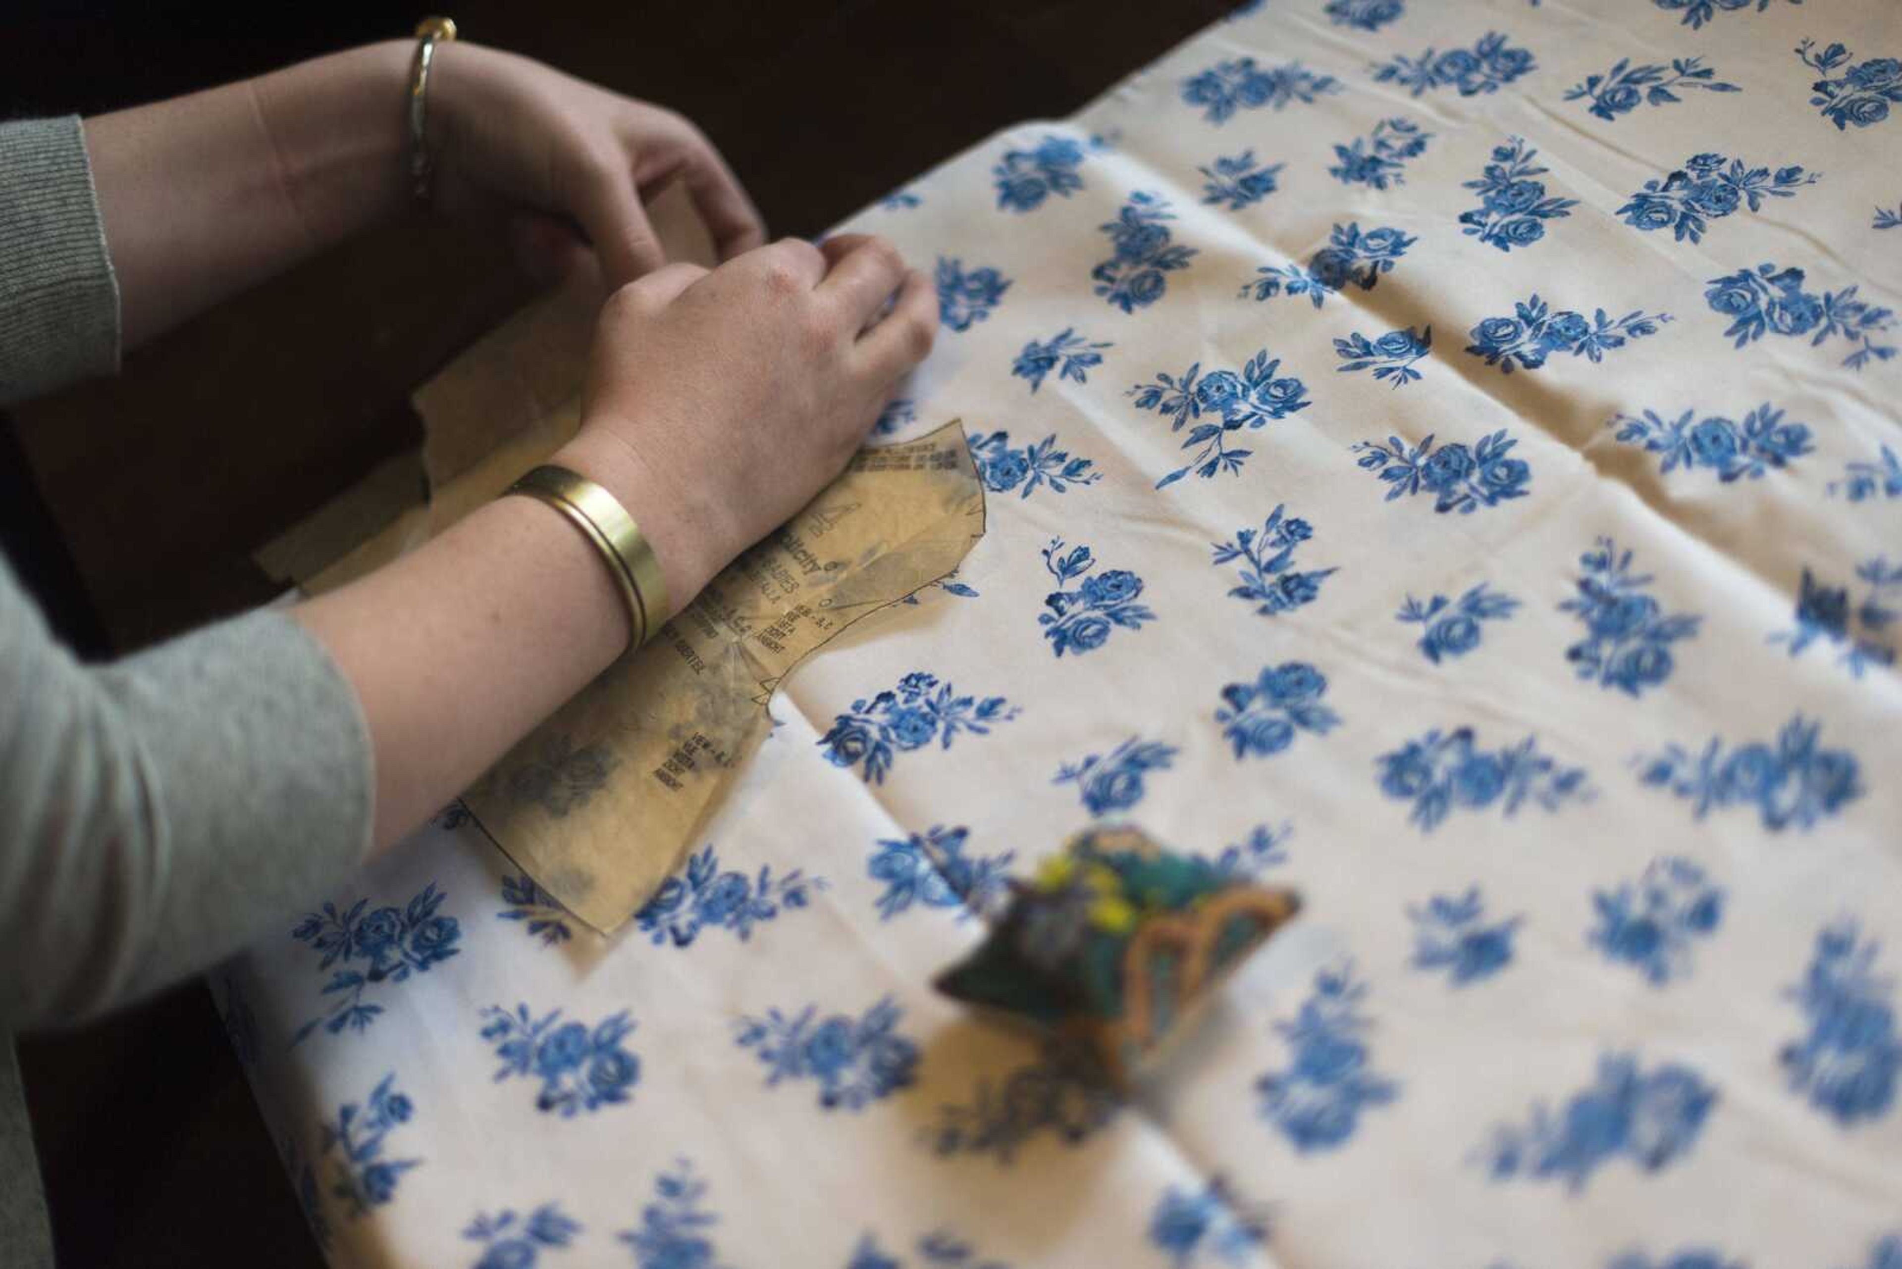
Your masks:
<instances>
[{"instance_id":1,"label":"tall upright blue rose cluster just below the shadowed crease at right","mask_svg":"<svg viewBox=\"0 0 1902 1269\"><path fill-rule=\"evenodd\" d=\"M1702 616L1668 616L1645 590L1651 575L1632 573L1632 552L1611 538L1579 556L1579 594L1558 605L1584 622L1584 637L1565 649L1581 679L1640 696L1672 675L1672 643L1697 635Z\"/></svg>"}]
</instances>

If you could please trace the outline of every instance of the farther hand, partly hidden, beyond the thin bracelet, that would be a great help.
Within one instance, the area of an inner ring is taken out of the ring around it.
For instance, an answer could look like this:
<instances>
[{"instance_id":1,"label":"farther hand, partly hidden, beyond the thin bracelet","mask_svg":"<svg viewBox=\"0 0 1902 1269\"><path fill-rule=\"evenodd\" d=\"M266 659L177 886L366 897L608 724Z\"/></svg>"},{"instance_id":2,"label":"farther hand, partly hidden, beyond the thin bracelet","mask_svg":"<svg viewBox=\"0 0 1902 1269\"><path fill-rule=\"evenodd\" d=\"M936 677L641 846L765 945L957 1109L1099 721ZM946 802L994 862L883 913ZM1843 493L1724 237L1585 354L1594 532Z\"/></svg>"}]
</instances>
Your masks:
<instances>
[{"instance_id":1,"label":"farther hand, partly hidden, beyond the thin bracelet","mask_svg":"<svg viewBox=\"0 0 1902 1269\"><path fill-rule=\"evenodd\" d=\"M767 228L727 162L683 116L474 44L437 44L428 146L434 198L456 211L504 202L531 213L542 253L586 234L609 287L666 263L643 200L683 181L723 261Z\"/></svg>"}]
</instances>

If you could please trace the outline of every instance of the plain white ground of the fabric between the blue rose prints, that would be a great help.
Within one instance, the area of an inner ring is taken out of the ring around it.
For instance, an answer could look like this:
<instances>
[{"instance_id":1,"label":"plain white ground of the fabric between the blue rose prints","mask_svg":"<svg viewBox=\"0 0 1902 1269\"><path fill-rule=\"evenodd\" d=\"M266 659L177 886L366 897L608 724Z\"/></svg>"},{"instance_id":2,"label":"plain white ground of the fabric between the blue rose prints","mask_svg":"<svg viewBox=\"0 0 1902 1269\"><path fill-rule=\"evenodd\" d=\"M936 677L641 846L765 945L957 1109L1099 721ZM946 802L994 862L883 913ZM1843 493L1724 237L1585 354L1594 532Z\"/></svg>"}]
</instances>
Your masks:
<instances>
[{"instance_id":1,"label":"plain white ground of the fabric between the blue rose prints","mask_svg":"<svg viewBox=\"0 0 1902 1269\"><path fill-rule=\"evenodd\" d=\"M747 879L763 866L772 885L791 869L822 877L808 908L759 921L744 942L708 928L690 946L656 946L637 927L601 940L571 923L571 942L544 946L525 921L500 917L515 908L502 896L504 875L515 873L506 856L474 824L439 824L344 892L310 896L314 911L358 900L403 908L436 885L447 896L441 915L458 921L458 955L363 995L384 1006L365 1029L320 1027L291 1043L306 1020L327 1016L335 995L323 986L342 968L320 968L291 930L213 978L240 1050L255 1058L253 1083L293 1181L310 1170L333 1263L476 1263L487 1244L464 1237L474 1218L542 1204L580 1225L542 1263L664 1263L616 1235L643 1225L656 1178L681 1159L717 1218L698 1231L709 1258L681 1259L694 1265L831 1269L852 1263L867 1237L892 1261L922 1265L932 1261L919 1239L932 1231L970 1242L972 1265L1018 1269L1598 1269L1626 1254L1664 1265L1687 1248L1759 1269L1873 1263L1879 1239L1902 1233L1902 1111L1892 1096L1887 1105L1872 1096L1845 1121L1782 1054L1813 1029L1792 989L1816 963L1818 934L1843 921L1854 923L1858 947L1875 946L1856 997L1868 1010L1854 1025L1873 1027L1868 1043L1879 1046L1889 1008L1894 1035L1902 679L1879 662L1853 674L1845 645L1830 639L1792 654L1773 635L1797 630L1805 569L1849 584L1854 603L1868 590L1854 580L1860 563L1885 552L1902 561L1902 498L1881 487L1851 498L1841 487L1851 464L1877 462L1883 445L1902 449L1902 360L1851 371L1841 361L1854 344L1815 346L1807 335L1733 348L1731 318L1706 289L1771 261L1803 268L1811 291L1858 285L1864 301L1902 301L1902 228L1873 219L1902 202L1902 107L1839 129L1809 101L1818 72L1792 51L1811 38L1816 49L1841 42L1856 63L1902 57L1902 11L1765 0L1714 10L1700 27L1681 17L1647 0L1409 0L1398 19L1364 30L1331 23L1320 0L1271 2L1071 120L1012 129L924 175L907 190L917 205L848 221L890 236L913 261L955 259L1010 280L987 318L940 337L905 390L915 420L903 432L962 419L974 438L1006 430L1012 447L1056 436L1101 478L1065 493L993 491L987 535L957 578L974 595L926 590L860 622L782 685L778 727L706 843L721 869ZM1472 48L1495 30L1537 63L1497 91L1447 86L1413 97L1373 76L1396 55ZM1183 84L1240 57L1265 68L1299 61L1341 91L1210 124L1183 101ZM1619 59L1674 57L1702 57L1738 91L1685 89L1678 103L1613 122L1565 99ZM1404 185L1350 186L1328 173L1335 145L1394 116L1432 133ZM1031 211L999 207L993 167L1052 135L1107 143L1075 167L1082 188ZM1546 192L1577 205L1548 221L1543 240L1499 251L1461 234L1459 215L1480 204L1463 183L1512 135L1550 169L1539 177ZM1240 211L1204 205L1198 167L1242 150L1284 164L1276 192ZM1702 152L1822 175L1756 213L1710 221L1698 244L1624 223L1617 209L1645 181ZM1139 190L1168 202L1172 240L1196 255L1168 274L1160 299L1124 314L1092 291L1092 268L1113 257L1097 226ZM1257 268L1307 263L1347 223L1417 242L1373 289L1343 289L1320 308L1307 297L1238 297ZM1504 375L1463 352L1472 327L1535 293L1586 318L1603 308L1613 320L1670 322L1601 363L1552 356ZM1428 323L1419 382L1388 388L1335 369L1337 339ZM1063 329L1111 346L1084 382L1050 373L1033 394L1012 361ZM1873 342L1898 342L1896 331ZM1156 489L1189 460L1189 430L1172 434L1130 388L1193 363L1240 371L1263 350L1312 403L1231 434L1252 451L1238 472ZM1721 481L1704 466L1664 474L1660 455L1607 426L1647 409L1740 420L1761 403L1801 420L1813 449L1759 479ZM1531 466L1527 497L1472 514L1436 514L1432 493L1387 500L1390 485L1356 462L1358 441L1415 445L1432 434L1478 445L1497 430ZM1312 603L1263 616L1229 594L1238 569L1213 565L1212 544L1259 529L1276 506L1312 527L1295 567L1335 573ZM1695 635L1670 645L1668 677L1636 696L1581 679L1565 654L1586 628L1560 605L1579 594L1581 556L1601 537L1634 554L1632 573L1651 575L1645 594L1662 613L1700 618ZM1088 546L1097 575L1139 575L1155 618L1054 656L1037 620L1059 590L1042 557L1052 538L1065 552ZM1396 611L1407 595L1457 599L1480 582L1520 599L1518 611L1482 622L1470 653L1430 662L1423 626L1398 622ZM1902 643L1902 630L1881 622L1868 634ZM1215 717L1223 689L1286 662L1326 675L1324 704L1339 723L1236 757ZM898 752L883 784L827 763L820 740L833 721L913 672L959 694L1002 696L1018 713L947 750ZM1820 746L1849 752L1860 776L1860 795L1807 828L1771 828L1737 803L1698 814L1695 799L1643 780L1645 759L1672 744L1693 757L1712 740L1725 755L1775 746L1794 715L1820 725ZM1499 805L1455 807L1423 830L1409 820L1413 803L1383 791L1383 755L1461 727L1487 750L1535 738L1539 753L1586 772L1590 795L1560 797L1550 810L1527 801L1510 816ZM1255 826L1286 824L1286 862L1259 875L1297 888L1303 915L1109 1126L1078 1143L1037 1132L1008 1162L941 1157L928 1140L941 1107L968 1105L983 1081L995 1088L1035 1062L1037 1044L932 993L934 972L980 938L981 923L921 904L881 919L886 887L867 875L867 860L881 839L964 826L970 854L1014 850L1010 871L1023 875L1092 820L1078 786L1056 782L1059 769L1130 738L1175 755L1116 814L1212 856ZM1721 917L1685 934L1685 959L1653 982L1640 963L1592 944L1594 896L1638 885L1664 856L1700 869L1721 894ZM1446 968L1413 963L1409 909L1470 887L1489 925L1518 923L1503 966L1453 986ZM1388 1081L1392 1098L1360 1105L1345 1140L1303 1149L1265 1113L1257 1081L1290 1071L1301 1043L1280 1027L1314 997L1316 974L1349 965L1366 986L1356 1005L1366 1025L1352 1041L1364 1046L1364 1073ZM917 1081L858 1111L824 1109L810 1079L768 1086L767 1065L736 1043L742 1018L770 1008L858 1018L884 997L919 1046ZM534 1077L496 1079L502 1062L481 1035L481 1010L517 1005L590 1025L628 1010L637 1029L626 1046L641 1062L630 1100L563 1119L536 1109ZM1590 1159L1579 1185L1525 1170L1495 1176L1495 1130L1524 1128L1539 1105L1563 1117L1605 1056L1632 1056L1645 1075L1689 1069L1714 1098L1655 1166L1643 1159L1645 1124L1626 1124L1617 1149L1581 1147ZM384 1138L382 1157L415 1166L388 1202L350 1216L331 1195L342 1161L321 1124L392 1075L413 1115ZM1213 1235L1187 1254L1158 1244L1151 1223L1166 1193L1204 1193L1217 1176L1238 1202L1267 1212L1265 1240L1236 1240L1232 1261Z\"/></svg>"}]
</instances>

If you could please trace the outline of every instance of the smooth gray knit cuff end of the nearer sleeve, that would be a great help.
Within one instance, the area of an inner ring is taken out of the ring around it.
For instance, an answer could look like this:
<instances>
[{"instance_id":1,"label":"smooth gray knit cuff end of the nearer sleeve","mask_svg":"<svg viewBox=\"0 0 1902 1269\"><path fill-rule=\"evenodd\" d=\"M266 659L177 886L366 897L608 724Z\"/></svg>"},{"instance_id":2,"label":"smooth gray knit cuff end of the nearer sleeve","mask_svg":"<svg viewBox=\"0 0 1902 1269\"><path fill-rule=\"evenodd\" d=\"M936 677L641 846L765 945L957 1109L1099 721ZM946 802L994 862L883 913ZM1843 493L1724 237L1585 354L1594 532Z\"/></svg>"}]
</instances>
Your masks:
<instances>
[{"instance_id":1,"label":"smooth gray knit cuff end of the nearer sleeve","mask_svg":"<svg viewBox=\"0 0 1902 1269\"><path fill-rule=\"evenodd\" d=\"M356 689L281 611L259 611L101 672L146 738L158 810L152 951L139 995L205 968L320 902L371 841L375 763Z\"/></svg>"}]
</instances>

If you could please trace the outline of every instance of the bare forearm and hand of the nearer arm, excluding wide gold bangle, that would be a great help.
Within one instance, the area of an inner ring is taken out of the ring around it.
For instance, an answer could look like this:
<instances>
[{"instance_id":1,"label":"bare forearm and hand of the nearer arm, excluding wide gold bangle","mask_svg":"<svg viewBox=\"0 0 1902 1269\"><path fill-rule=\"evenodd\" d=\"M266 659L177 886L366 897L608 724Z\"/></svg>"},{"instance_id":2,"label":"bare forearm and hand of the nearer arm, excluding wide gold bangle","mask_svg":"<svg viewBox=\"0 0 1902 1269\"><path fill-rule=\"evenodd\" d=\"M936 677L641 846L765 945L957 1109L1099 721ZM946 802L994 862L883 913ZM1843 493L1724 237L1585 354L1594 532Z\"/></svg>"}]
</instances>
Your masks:
<instances>
[{"instance_id":1,"label":"bare forearm and hand of the nearer arm, excluding wide gold bangle","mask_svg":"<svg viewBox=\"0 0 1902 1269\"><path fill-rule=\"evenodd\" d=\"M936 329L930 283L877 238L776 242L711 272L668 264L601 312L582 430L553 460L626 504L679 607L844 466ZM531 498L474 510L297 616L363 706L378 849L630 635L599 554Z\"/></svg>"}]
</instances>

